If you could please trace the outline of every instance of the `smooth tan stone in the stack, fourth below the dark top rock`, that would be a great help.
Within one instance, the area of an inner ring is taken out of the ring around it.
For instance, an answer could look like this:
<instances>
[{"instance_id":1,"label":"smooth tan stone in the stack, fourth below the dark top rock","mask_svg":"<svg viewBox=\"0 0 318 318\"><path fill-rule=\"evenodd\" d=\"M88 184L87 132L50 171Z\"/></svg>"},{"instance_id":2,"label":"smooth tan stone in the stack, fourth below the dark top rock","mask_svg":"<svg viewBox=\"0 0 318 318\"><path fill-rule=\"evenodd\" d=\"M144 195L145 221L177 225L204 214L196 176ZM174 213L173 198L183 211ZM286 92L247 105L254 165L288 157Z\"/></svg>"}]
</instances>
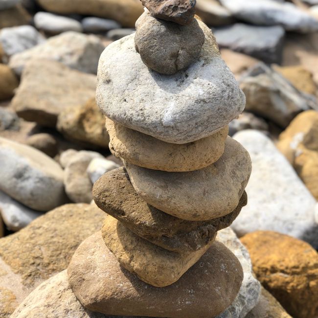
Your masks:
<instances>
[{"instance_id":1,"label":"smooth tan stone in the stack, fourth below the dark top rock","mask_svg":"<svg viewBox=\"0 0 318 318\"><path fill-rule=\"evenodd\" d=\"M175 217L205 221L235 209L249 181L249 153L227 137L221 158L190 172L164 172L125 164L138 195L148 204Z\"/></svg>"}]
</instances>

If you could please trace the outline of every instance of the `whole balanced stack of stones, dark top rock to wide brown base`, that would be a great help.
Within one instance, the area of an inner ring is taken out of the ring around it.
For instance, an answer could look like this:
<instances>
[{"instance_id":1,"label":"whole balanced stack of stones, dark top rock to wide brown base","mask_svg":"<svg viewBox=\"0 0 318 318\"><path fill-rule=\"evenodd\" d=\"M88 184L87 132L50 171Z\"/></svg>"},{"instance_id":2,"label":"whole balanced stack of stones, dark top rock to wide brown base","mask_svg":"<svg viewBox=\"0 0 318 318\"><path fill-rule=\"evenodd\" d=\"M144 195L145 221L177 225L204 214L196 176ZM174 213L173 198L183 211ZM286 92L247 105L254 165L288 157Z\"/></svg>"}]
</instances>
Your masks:
<instances>
[{"instance_id":1,"label":"whole balanced stack of stones, dark top rock to wide brown base","mask_svg":"<svg viewBox=\"0 0 318 318\"><path fill-rule=\"evenodd\" d=\"M195 0L142 4L136 34L100 58L97 104L124 167L94 184L108 216L68 280L84 308L106 315L216 317L243 279L215 237L247 204L250 156L227 136L245 96Z\"/></svg>"}]
</instances>

